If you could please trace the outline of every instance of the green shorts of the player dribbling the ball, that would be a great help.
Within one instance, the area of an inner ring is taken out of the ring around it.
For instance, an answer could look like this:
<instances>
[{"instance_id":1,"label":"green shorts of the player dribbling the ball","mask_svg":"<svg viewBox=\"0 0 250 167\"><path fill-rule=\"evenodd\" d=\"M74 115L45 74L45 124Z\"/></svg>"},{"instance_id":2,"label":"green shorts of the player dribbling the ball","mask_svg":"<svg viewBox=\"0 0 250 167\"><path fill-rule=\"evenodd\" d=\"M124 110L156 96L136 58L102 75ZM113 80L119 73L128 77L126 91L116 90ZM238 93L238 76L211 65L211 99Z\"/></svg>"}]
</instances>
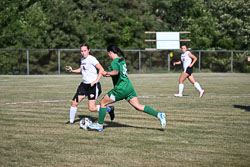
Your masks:
<instances>
[{"instance_id":1,"label":"green shorts of the player dribbling the ball","mask_svg":"<svg viewBox=\"0 0 250 167\"><path fill-rule=\"evenodd\" d=\"M112 99L113 101L119 101L119 100L123 100L123 99L129 101L133 97L137 97L137 94L136 94L134 89L130 89L130 90L112 89L107 94L108 94L109 98Z\"/></svg>"}]
</instances>

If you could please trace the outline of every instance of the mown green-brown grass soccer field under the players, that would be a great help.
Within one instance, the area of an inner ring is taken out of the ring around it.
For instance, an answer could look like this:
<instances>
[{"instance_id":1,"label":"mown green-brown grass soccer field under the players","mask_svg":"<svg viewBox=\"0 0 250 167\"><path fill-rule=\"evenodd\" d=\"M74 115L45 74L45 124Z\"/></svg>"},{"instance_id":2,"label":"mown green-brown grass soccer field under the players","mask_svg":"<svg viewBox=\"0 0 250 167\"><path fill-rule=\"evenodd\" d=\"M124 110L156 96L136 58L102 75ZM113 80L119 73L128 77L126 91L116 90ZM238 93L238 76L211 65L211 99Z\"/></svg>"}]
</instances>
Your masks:
<instances>
[{"instance_id":1,"label":"mown green-brown grass soccer field under the players","mask_svg":"<svg viewBox=\"0 0 250 167\"><path fill-rule=\"evenodd\" d=\"M0 166L250 166L250 74L196 73L203 98L179 74L129 76L142 104L167 113L167 127L126 101L114 104L104 131L79 120L97 113L84 100L68 120L80 75L0 76ZM103 93L112 88L103 78Z\"/></svg>"}]
</instances>

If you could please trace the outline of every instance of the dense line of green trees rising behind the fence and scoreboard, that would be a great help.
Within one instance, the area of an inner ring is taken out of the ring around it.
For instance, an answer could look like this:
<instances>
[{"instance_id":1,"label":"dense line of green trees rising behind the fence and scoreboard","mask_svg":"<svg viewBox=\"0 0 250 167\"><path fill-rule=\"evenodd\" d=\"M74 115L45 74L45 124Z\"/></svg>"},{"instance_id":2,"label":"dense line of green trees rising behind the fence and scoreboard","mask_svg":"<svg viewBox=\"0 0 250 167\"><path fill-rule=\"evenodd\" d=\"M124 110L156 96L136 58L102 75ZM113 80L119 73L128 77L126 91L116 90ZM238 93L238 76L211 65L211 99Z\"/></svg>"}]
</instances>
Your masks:
<instances>
[{"instance_id":1,"label":"dense line of green trees rising behind the fence and scoreboard","mask_svg":"<svg viewBox=\"0 0 250 167\"><path fill-rule=\"evenodd\" d=\"M190 31L188 45L195 50L250 50L250 1L0 1L0 48L75 49L88 43L105 49L112 43L144 49L145 31ZM7 57L1 56L1 68L7 68Z\"/></svg>"}]
</instances>

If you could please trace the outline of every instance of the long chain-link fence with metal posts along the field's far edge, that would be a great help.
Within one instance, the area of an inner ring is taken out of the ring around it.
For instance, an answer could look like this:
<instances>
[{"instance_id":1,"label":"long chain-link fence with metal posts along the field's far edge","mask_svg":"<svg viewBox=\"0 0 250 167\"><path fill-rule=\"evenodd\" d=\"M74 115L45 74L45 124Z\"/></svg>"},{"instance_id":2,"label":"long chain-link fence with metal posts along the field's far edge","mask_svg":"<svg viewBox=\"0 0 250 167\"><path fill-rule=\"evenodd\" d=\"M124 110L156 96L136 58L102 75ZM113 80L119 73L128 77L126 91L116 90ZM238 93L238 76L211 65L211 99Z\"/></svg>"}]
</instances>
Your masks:
<instances>
[{"instance_id":1,"label":"long chain-link fence with metal posts along the field's far edge","mask_svg":"<svg viewBox=\"0 0 250 167\"><path fill-rule=\"evenodd\" d=\"M154 73L181 71L182 65L173 67L180 60L181 51L175 50L124 50L129 73ZM244 50L191 50L198 58L196 72L250 72ZM105 49L91 49L105 69L111 60ZM65 74L66 65L79 68L80 49L0 49L0 74Z\"/></svg>"}]
</instances>

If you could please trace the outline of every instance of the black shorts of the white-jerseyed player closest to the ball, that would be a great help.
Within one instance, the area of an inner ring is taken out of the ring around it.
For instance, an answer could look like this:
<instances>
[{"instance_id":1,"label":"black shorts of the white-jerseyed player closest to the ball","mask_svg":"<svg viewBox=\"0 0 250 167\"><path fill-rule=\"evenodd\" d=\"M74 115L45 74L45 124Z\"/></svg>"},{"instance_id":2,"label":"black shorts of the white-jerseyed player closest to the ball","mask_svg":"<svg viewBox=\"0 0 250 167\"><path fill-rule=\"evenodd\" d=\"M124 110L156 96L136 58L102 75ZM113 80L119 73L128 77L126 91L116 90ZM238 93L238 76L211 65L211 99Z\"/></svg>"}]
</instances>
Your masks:
<instances>
[{"instance_id":1,"label":"black shorts of the white-jerseyed player closest to the ball","mask_svg":"<svg viewBox=\"0 0 250 167\"><path fill-rule=\"evenodd\" d=\"M98 82L91 87L90 84L81 83L76 91L73 101L76 100L78 103L78 96L88 96L88 100L96 100L98 96L102 93L101 84Z\"/></svg>"}]
</instances>

